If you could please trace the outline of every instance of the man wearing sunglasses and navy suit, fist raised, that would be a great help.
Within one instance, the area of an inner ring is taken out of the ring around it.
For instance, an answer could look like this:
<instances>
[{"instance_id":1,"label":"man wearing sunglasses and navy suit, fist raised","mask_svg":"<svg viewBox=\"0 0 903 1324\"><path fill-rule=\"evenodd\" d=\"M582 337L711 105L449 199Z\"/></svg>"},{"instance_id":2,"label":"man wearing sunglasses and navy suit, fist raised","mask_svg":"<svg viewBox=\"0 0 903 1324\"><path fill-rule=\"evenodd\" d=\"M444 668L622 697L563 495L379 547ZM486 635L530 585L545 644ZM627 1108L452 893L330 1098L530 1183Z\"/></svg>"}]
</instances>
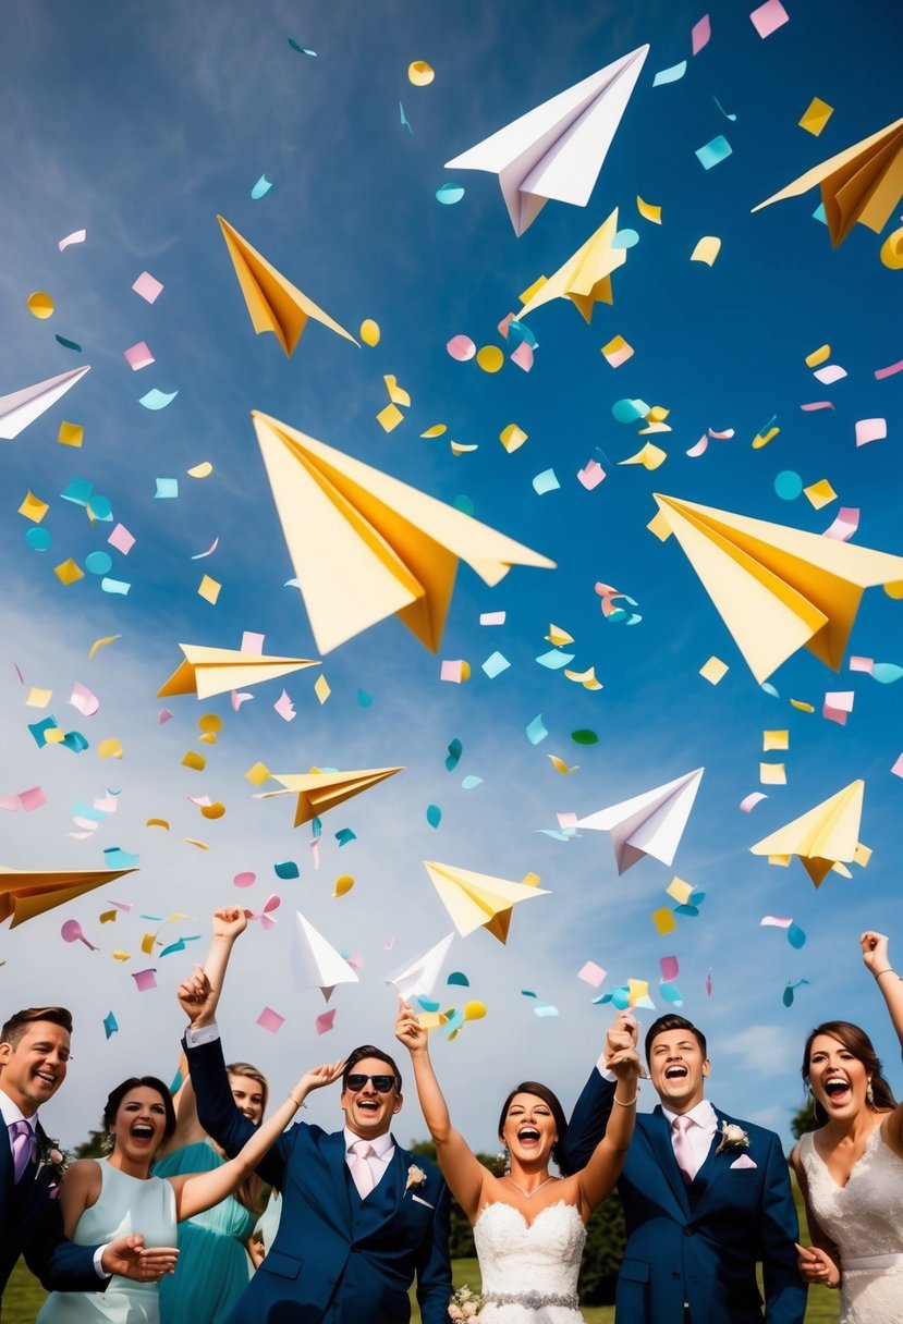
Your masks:
<instances>
[{"instance_id":1,"label":"man wearing sunglasses and navy suit, fist raised","mask_svg":"<svg viewBox=\"0 0 903 1324\"><path fill-rule=\"evenodd\" d=\"M253 1123L232 1098L214 1013L246 923L237 907L217 911L207 965L179 989L197 1115L229 1155ZM344 1128L302 1121L270 1149L258 1170L282 1193L279 1230L228 1324L408 1324L414 1279L424 1324L448 1324L449 1192L437 1168L392 1139L401 1104L397 1066L363 1045L342 1072Z\"/></svg>"}]
</instances>

